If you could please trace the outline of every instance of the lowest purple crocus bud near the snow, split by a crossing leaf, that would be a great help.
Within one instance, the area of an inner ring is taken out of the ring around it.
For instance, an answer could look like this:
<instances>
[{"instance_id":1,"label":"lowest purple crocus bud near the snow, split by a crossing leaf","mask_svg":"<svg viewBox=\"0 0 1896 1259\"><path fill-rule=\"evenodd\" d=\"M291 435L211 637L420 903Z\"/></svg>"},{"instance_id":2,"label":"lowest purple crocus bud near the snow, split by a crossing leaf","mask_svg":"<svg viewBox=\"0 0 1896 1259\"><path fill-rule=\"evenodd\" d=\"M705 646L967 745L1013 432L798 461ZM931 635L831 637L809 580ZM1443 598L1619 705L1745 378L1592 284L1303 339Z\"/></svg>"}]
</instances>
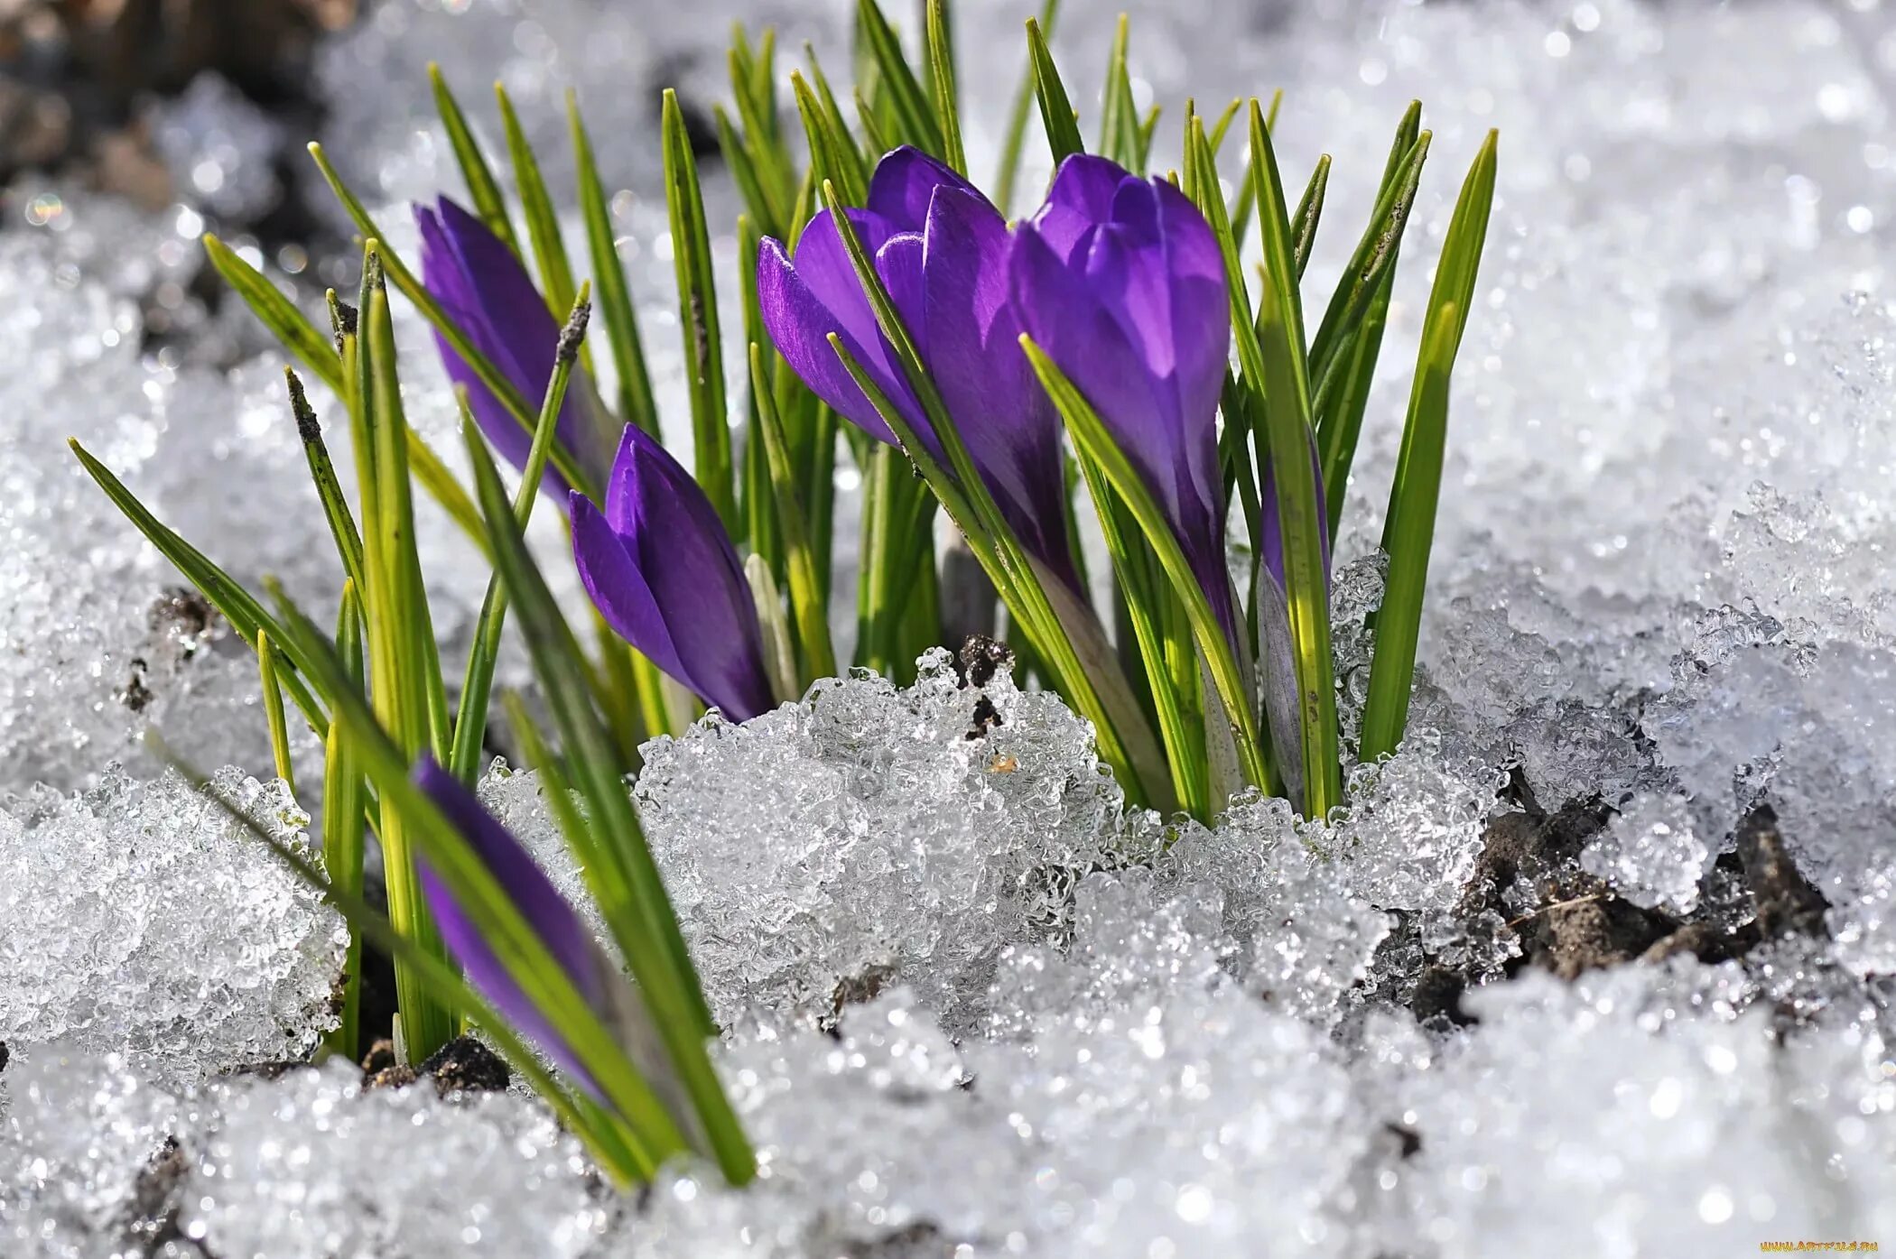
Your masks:
<instances>
[{"instance_id":1,"label":"lowest purple crocus bud near the snow, split by a crossing leaf","mask_svg":"<svg viewBox=\"0 0 1896 1259\"><path fill-rule=\"evenodd\" d=\"M554 956L559 969L567 973L573 986L595 1011L607 1003L607 984L618 976L605 975L599 967L599 950L586 931L586 923L567 904L559 889L540 870L520 840L506 827L482 808L474 793L453 774L447 774L432 757L423 757L415 764L415 785L447 817L447 823L461 832L487 872L501 884L501 889L514 901L521 918L533 927L546 952ZM578 1064L578 1056L565 1037L540 1014L540 1007L521 992L506 965L495 956L480 929L461 910L447 887L427 867L419 867L423 893L434 921L442 931L447 952L461 963L468 982L472 982L495 1009L501 1011L521 1033L533 1039L561 1067L571 1071L590 1092L597 1096L597 1086Z\"/></svg>"}]
</instances>

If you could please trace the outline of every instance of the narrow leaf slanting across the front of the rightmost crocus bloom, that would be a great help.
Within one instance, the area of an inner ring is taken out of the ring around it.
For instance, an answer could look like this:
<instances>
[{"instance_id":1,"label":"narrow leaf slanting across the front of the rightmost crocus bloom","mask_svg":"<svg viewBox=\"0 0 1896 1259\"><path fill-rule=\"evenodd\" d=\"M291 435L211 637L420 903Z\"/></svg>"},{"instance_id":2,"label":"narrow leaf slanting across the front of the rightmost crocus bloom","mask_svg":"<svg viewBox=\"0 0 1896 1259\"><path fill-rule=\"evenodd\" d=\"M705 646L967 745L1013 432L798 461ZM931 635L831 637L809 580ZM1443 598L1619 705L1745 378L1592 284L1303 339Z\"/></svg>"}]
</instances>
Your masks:
<instances>
[{"instance_id":1,"label":"narrow leaf slanting across the front of the rightmost crocus bloom","mask_svg":"<svg viewBox=\"0 0 1896 1259\"><path fill-rule=\"evenodd\" d=\"M1185 552L1172 535L1170 523L1166 523L1164 512L1153 499L1145 480L1132 466L1132 461L1126 459L1126 453L1113 442L1105 421L1098 417L1092 404L1086 402L1066 374L1054 366L1054 360L1048 358L1026 334L1020 338L1020 347L1028 353L1028 360L1033 364L1033 374L1041 379L1041 387L1047 389L1047 394L1054 400L1062 419L1066 419L1067 432L1073 434L1073 444L1098 466L1098 470L1111 484L1113 493L1119 495L1119 501L1132 512L1139 525L1139 533L1145 535L1145 542L1153 548L1160 567L1172 580L1172 590L1183 603L1185 614L1191 622L1193 639L1212 671L1212 683L1217 688L1219 700L1225 703L1227 717L1231 719L1231 734L1238 747L1238 762L1244 770L1244 777L1255 787L1268 785L1270 770L1265 764L1263 749L1257 743L1257 722L1251 717L1249 688L1244 684L1244 675L1231 652L1231 643L1217 620L1217 612L1212 611L1212 601L1206 599L1204 588L1198 584L1198 576L1191 569L1191 561L1185 559Z\"/></svg>"}]
</instances>

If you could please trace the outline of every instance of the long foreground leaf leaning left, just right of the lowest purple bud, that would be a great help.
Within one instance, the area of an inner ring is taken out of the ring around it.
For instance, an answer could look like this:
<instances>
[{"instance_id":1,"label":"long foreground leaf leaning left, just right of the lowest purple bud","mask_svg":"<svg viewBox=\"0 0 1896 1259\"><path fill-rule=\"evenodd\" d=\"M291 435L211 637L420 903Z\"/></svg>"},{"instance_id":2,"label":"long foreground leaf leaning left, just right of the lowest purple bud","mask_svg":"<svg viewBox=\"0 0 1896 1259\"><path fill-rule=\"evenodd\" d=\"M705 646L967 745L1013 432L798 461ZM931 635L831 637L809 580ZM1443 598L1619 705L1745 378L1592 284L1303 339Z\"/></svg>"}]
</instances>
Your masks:
<instances>
[{"instance_id":1,"label":"long foreground leaf leaning left, just right of the lowest purple bud","mask_svg":"<svg viewBox=\"0 0 1896 1259\"><path fill-rule=\"evenodd\" d=\"M711 1011L658 865L645 844L639 815L626 794L611 739L586 692L578 643L527 554L493 459L474 427L465 425L465 430L495 561L518 609L535 673L586 798L593 840L593 861L586 865L588 884L637 978L639 997L664 1039L671 1069L703 1126L707 1153L717 1159L730 1183L741 1185L757 1174L757 1159L711 1069L705 1052L705 1037L715 1033Z\"/></svg>"}]
</instances>

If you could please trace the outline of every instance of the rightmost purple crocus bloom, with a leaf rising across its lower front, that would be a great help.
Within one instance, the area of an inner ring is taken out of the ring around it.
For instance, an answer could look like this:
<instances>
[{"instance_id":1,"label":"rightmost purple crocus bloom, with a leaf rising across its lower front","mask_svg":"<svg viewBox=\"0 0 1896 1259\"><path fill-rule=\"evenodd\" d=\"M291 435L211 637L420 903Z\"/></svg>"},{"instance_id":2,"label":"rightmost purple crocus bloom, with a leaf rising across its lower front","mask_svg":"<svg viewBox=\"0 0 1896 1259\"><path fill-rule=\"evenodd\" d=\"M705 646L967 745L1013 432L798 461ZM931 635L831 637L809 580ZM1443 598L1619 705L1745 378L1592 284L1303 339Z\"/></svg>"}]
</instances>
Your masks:
<instances>
[{"instance_id":1,"label":"rightmost purple crocus bloom, with a leaf rising across its lower front","mask_svg":"<svg viewBox=\"0 0 1896 1259\"><path fill-rule=\"evenodd\" d=\"M1172 184L1075 154L1014 229L1007 283L1028 336L1145 478L1236 643L1215 430L1231 305L1212 226Z\"/></svg>"}]
</instances>

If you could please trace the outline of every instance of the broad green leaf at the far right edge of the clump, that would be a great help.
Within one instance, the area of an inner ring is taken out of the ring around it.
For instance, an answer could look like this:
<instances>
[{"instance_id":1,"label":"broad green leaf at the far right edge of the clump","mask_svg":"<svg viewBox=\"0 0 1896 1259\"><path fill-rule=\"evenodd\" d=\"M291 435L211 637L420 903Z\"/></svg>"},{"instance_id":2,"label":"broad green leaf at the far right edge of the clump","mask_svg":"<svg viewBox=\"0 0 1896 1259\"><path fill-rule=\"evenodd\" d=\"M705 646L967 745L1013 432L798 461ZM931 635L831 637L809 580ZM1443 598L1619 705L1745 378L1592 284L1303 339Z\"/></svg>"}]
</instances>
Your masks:
<instances>
[{"instance_id":1,"label":"broad green leaf at the far right edge of the clump","mask_svg":"<svg viewBox=\"0 0 1896 1259\"><path fill-rule=\"evenodd\" d=\"M1416 637L1422 630L1422 595L1441 499L1441 463L1449 434L1449 375L1454 370L1468 309L1475 301L1475 277L1488 237L1494 207L1498 135L1488 133L1462 195L1449 220L1435 284L1424 317L1422 355L1416 362L1403 449L1395 461L1390 514L1382 550L1390 556L1388 586L1375 616L1376 650L1369 666L1369 698L1363 705L1361 758L1394 753L1409 724L1409 692L1414 683Z\"/></svg>"}]
</instances>

